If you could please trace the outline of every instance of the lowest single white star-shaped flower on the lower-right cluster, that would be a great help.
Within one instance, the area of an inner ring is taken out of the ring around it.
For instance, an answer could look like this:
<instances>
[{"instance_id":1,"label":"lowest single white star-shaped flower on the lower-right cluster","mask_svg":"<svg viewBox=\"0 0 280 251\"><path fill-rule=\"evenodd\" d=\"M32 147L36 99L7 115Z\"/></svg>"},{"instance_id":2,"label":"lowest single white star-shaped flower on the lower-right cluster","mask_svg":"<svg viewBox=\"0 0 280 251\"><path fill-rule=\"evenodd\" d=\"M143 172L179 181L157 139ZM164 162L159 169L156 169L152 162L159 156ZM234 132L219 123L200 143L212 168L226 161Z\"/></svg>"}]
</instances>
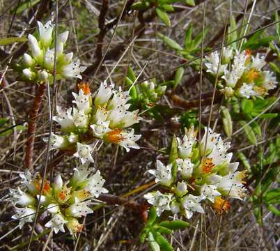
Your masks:
<instances>
[{"instance_id":1,"label":"lowest single white star-shaped flower on the lower-right cluster","mask_svg":"<svg viewBox=\"0 0 280 251\"><path fill-rule=\"evenodd\" d=\"M187 219L192 218L194 212L204 213L200 201L203 196L186 195L182 200L182 206L185 208Z\"/></svg>"}]
</instances>

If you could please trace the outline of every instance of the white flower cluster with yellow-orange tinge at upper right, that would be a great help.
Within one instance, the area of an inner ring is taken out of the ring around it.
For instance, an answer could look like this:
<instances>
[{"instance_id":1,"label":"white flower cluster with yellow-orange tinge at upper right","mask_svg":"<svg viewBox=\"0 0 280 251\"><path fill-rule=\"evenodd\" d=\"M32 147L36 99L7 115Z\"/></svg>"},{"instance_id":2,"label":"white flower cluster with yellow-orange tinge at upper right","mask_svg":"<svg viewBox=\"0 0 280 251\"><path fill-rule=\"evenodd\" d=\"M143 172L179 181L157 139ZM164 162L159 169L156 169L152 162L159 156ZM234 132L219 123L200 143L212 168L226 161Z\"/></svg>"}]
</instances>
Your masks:
<instances>
[{"instance_id":1,"label":"white flower cluster with yellow-orange tinge at upper right","mask_svg":"<svg viewBox=\"0 0 280 251\"><path fill-rule=\"evenodd\" d=\"M217 74L219 58L217 51L205 56L206 72ZM262 70L265 65L265 56L260 56L259 53L255 57L251 56L249 50L234 52L230 47L224 47L218 73L221 92L227 98L264 97L267 91L277 86L273 73Z\"/></svg>"}]
</instances>

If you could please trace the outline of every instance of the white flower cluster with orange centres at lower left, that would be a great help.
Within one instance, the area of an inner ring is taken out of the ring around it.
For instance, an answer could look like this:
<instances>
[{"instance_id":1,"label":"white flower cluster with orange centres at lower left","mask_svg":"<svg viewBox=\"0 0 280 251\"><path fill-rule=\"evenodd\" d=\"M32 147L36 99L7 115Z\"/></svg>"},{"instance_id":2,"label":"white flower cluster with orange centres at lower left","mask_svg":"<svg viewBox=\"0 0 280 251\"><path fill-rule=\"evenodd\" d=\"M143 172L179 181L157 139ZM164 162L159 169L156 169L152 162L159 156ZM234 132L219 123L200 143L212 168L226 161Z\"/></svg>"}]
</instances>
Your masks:
<instances>
[{"instance_id":1,"label":"white flower cluster with orange centres at lower left","mask_svg":"<svg viewBox=\"0 0 280 251\"><path fill-rule=\"evenodd\" d=\"M26 174L20 174L26 192L20 188L10 190L8 200L13 202L17 212L12 218L20 220L20 229L26 222L32 222L40 198L39 212L47 211L50 215L50 220L45 227L51 227L57 233L64 232L64 226L66 226L70 234L75 235L83 228L77 218L93 213L89 207L92 203L91 199L108 192L106 188L103 188L105 180L100 176L100 171L90 175L93 171L94 168L88 167L88 164L81 165L74 169L74 174L68 182L63 183L60 174L56 176L53 183L45 181L41 197L42 178L32 176L29 171Z\"/></svg>"}]
</instances>

